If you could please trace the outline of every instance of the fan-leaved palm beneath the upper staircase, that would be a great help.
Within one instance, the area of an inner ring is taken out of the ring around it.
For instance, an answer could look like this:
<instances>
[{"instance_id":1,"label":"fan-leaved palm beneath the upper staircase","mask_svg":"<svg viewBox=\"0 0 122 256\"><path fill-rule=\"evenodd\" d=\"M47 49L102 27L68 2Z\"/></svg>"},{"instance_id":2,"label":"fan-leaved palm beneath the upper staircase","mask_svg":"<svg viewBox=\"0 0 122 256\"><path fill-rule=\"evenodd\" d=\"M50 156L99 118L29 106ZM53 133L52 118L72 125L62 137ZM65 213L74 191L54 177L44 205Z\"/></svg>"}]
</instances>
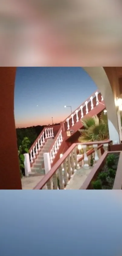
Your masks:
<instances>
[{"instance_id":1,"label":"fan-leaved palm beneath the upper staircase","mask_svg":"<svg viewBox=\"0 0 122 256\"><path fill-rule=\"evenodd\" d=\"M107 115L103 112L100 118L97 115L84 117L81 119L81 123L84 129L79 130L81 133L79 142L101 141L109 138Z\"/></svg>"}]
</instances>

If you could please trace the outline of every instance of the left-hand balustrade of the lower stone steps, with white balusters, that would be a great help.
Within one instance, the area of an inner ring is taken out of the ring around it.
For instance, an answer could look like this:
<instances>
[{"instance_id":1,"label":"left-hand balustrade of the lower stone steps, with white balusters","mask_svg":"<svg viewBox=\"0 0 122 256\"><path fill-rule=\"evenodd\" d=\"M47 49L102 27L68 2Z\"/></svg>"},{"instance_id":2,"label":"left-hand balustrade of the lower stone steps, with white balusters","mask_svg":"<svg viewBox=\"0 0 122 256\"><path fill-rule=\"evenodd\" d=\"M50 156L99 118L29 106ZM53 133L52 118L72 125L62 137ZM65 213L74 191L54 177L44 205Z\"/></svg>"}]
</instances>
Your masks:
<instances>
[{"instance_id":1,"label":"left-hand balustrade of the lower stone steps, with white balusters","mask_svg":"<svg viewBox=\"0 0 122 256\"><path fill-rule=\"evenodd\" d=\"M53 127L44 127L42 132L38 135L37 139L29 149L29 157L30 157L30 163L32 164L34 159L36 158L36 155L38 155L39 151L45 144L45 140L53 138Z\"/></svg>"}]
</instances>

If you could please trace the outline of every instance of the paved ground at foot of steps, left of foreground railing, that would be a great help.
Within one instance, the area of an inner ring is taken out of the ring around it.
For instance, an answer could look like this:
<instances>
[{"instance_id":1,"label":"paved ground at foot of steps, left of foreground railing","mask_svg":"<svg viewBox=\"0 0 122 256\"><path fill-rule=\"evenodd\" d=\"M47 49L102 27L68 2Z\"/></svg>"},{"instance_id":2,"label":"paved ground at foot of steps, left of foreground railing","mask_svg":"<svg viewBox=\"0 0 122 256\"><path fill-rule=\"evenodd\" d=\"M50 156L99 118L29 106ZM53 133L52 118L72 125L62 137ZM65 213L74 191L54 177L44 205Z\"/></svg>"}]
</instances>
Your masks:
<instances>
[{"instance_id":1,"label":"paved ground at foot of steps, left of foreground railing","mask_svg":"<svg viewBox=\"0 0 122 256\"><path fill-rule=\"evenodd\" d=\"M33 189L45 175L23 177L21 179L22 189Z\"/></svg>"}]
</instances>

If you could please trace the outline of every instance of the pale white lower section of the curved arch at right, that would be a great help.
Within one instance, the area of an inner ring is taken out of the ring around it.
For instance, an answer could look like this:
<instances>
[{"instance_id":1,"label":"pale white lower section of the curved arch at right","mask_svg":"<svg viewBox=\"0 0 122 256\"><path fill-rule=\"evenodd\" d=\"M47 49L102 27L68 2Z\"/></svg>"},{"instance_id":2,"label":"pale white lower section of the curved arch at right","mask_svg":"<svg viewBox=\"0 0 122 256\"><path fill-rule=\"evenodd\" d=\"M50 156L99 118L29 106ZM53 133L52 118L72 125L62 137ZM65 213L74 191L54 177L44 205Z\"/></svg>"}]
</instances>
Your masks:
<instances>
[{"instance_id":1,"label":"pale white lower section of the curved arch at right","mask_svg":"<svg viewBox=\"0 0 122 256\"><path fill-rule=\"evenodd\" d=\"M119 144L119 130L117 131L112 122L108 119L109 138L113 141L113 144Z\"/></svg>"}]
</instances>

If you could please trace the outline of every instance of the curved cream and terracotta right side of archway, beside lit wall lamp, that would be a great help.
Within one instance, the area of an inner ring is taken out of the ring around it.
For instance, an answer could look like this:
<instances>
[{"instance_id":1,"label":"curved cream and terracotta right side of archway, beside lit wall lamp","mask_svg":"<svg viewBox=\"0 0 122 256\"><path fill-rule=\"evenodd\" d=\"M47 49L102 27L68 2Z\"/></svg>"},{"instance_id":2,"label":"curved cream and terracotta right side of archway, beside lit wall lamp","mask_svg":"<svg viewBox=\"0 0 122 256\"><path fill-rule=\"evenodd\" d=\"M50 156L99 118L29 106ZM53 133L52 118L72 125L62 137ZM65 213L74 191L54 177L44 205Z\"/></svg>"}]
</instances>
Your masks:
<instances>
[{"instance_id":1,"label":"curved cream and terracotta right side of archway, beside lit wall lamp","mask_svg":"<svg viewBox=\"0 0 122 256\"><path fill-rule=\"evenodd\" d=\"M115 101L119 96L116 70L113 67L83 67L101 92L108 117L109 136L113 143L120 143L117 108Z\"/></svg>"}]
</instances>

